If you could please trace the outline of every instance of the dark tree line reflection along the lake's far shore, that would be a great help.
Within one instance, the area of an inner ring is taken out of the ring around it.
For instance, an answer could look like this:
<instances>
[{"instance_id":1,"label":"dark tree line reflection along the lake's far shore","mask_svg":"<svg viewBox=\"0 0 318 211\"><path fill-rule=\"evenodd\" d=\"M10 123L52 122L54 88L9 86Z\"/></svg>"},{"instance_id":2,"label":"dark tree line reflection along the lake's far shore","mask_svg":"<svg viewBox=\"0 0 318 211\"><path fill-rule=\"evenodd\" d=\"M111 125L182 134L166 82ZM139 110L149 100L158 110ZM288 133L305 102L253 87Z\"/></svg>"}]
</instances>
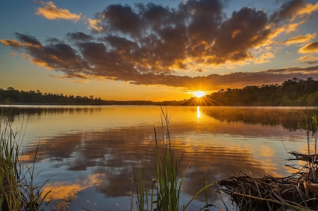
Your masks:
<instances>
[{"instance_id":1,"label":"dark tree line reflection along the lake's far shore","mask_svg":"<svg viewBox=\"0 0 318 211\"><path fill-rule=\"evenodd\" d=\"M133 109L132 109L133 107ZM154 109L156 108L156 109ZM207 106L207 107L167 107L172 116L176 114L176 122L182 122L184 117L189 119L189 114L193 114L196 109L196 118L200 119L203 113L220 121L243 122L262 125L282 125L290 130L298 129L298 123L305 124L305 114L309 115L316 112L315 108L308 107L227 107L227 106ZM164 108L165 109L165 108ZM134 110L132 112L132 110ZM179 112L182 110L182 116ZM5 111L9 111L12 120L15 116L23 115L47 116L58 115L74 116L74 114L83 115L88 113L96 117L97 115L109 117L108 119L119 120L136 117L149 120L157 119L160 108L154 106L33 106L21 105L19 107L6 106ZM175 112L177 111L177 112ZM148 122L148 121L147 121Z\"/></svg>"}]
</instances>

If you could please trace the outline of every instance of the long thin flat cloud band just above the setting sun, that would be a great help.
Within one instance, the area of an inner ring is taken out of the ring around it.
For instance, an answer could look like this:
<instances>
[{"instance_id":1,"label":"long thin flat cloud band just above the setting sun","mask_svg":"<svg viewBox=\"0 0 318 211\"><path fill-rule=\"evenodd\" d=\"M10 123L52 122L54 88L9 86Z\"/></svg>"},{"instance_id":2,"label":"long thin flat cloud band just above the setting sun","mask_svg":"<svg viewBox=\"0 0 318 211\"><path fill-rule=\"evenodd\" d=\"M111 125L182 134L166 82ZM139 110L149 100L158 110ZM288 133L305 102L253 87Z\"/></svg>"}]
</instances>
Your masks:
<instances>
[{"instance_id":1,"label":"long thin flat cloud band just above the setting sun","mask_svg":"<svg viewBox=\"0 0 318 211\"><path fill-rule=\"evenodd\" d=\"M176 75L141 75L134 84L164 84L172 87L191 89L220 90L222 88L240 88L247 85L282 83L291 78L318 78L318 66L310 68L286 68L261 72L237 72L225 75L211 74L208 76L176 76Z\"/></svg>"}]
</instances>

